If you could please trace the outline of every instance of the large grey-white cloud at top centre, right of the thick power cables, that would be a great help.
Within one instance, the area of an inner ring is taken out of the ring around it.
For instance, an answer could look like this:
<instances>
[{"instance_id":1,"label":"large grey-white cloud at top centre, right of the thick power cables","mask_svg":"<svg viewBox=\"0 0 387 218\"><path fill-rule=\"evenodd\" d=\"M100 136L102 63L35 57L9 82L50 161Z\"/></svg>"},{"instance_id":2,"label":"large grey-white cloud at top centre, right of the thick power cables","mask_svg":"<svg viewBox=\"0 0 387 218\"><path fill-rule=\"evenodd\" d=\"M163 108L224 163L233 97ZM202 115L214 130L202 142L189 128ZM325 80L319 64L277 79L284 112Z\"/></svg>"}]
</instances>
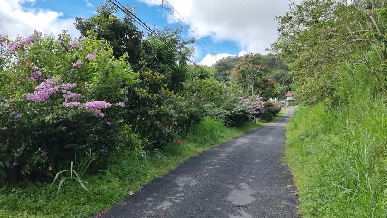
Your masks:
<instances>
[{"instance_id":1,"label":"large grey-white cloud at top centre, right of the thick power cables","mask_svg":"<svg viewBox=\"0 0 387 218\"><path fill-rule=\"evenodd\" d=\"M140 0L159 5L156 0ZM161 0L158 0L161 2ZM299 3L300 0L295 0ZM214 42L231 40L241 51L265 53L277 39L274 16L288 11L287 0L168 0L179 14L202 36ZM175 12L175 15L179 15ZM172 18L168 22L175 22ZM194 31L193 31L194 32Z\"/></svg>"}]
</instances>

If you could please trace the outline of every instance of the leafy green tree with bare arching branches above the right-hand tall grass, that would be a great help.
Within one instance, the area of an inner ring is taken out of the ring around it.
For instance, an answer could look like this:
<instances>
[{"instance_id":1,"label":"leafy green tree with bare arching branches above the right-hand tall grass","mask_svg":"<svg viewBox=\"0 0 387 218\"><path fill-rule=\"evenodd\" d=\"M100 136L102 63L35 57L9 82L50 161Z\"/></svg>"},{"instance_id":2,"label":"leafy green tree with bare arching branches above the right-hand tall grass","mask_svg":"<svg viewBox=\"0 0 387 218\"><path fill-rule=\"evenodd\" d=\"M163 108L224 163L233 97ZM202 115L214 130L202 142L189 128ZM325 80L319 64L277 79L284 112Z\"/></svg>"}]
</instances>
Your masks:
<instances>
[{"instance_id":1,"label":"leafy green tree with bare arching branches above the right-hand tall grass","mask_svg":"<svg viewBox=\"0 0 387 218\"><path fill-rule=\"evenodd\" d=\"M279 38L272 51L283 57L295 75L296 95L305 102L332 103L344 72L366 67L363 76L385 88L386 19L384 1L291 1L278 16Z\"/></svg>"}]
</instances>

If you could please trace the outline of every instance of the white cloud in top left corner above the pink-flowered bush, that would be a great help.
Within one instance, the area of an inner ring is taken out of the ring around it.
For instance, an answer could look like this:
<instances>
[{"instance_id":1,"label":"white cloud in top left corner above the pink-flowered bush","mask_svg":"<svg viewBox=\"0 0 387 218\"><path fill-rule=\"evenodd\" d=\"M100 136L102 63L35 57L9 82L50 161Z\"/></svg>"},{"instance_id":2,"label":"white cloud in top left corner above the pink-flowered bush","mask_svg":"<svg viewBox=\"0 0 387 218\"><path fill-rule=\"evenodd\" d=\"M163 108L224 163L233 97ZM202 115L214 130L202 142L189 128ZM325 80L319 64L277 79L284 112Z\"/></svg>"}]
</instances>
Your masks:
<instances>
[{"instance_id":1,"label":"white cloud in top left corner above the pink-flowered bush","mask_svg":"<svg viewBox=\"0 0 387 218\"><path fill-rule=\"evenodd\" d=\"M34 3L35 0L0 0L0 33L15 38L17 34L31 35L34 29L55 35L67 29L72 37L79 36L74 19L62 19L61 12L32 8Z\"/></svg>"}]
</instances>

